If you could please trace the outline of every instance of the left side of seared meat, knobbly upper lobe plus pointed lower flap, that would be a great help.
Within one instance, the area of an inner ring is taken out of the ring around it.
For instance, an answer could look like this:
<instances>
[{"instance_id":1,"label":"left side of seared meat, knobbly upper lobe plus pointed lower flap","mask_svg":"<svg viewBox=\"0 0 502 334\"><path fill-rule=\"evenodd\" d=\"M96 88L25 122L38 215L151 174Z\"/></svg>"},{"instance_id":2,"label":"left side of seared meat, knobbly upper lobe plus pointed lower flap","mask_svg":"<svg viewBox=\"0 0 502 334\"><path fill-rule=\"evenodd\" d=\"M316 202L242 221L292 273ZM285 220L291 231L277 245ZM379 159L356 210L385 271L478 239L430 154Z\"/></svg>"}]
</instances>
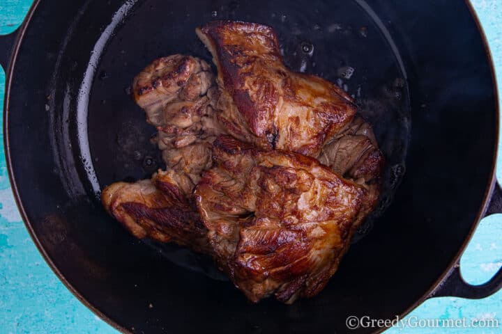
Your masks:
<instances>
[{"instance_id":1,"label":"left side of seared meat, knobbly upper lobe plus pointed lower flap","mask_svg":"<svg viewBox=\"0 0 502 334\"><path fill-rule=\"evenodd\" d=\"M211 88L212 87L212 88ZM152 180L119 182L102 193L107 211L135 237L174 241L209 251L206 228L192 200L201 172L211 168L211 147L220 129L211 100L218 97L209 65L176 54L153 61L133 83L135 101L158 129L167 171Z\"/></svg>"}]
</instances>

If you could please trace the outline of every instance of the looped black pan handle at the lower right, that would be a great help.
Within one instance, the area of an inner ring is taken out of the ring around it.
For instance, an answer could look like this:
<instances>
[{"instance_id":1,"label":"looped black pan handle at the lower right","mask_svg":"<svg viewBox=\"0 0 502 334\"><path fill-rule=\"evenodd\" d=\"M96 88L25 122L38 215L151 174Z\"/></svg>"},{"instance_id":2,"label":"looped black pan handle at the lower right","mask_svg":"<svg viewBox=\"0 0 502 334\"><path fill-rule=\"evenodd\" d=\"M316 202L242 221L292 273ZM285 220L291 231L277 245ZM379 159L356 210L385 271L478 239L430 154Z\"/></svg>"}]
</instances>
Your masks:
<instances>
[{"instance_id":1,"label":"looped black pan handle at the lower right","mask_svg":"<svg viewBox=\"0 0 502 334\"><path fill-rule=\"evenodd\" d=\"M502 213L502 189L499 182L492 185L492 195L487 205L485 217L491 214ZM446 278L429 295L432 297L455 296L469 299L481 299L491 296L502 288L502 268L496 272L487 283L470 285L460 274L460 263L457 262Z\"/></svg>"}]
</instances>

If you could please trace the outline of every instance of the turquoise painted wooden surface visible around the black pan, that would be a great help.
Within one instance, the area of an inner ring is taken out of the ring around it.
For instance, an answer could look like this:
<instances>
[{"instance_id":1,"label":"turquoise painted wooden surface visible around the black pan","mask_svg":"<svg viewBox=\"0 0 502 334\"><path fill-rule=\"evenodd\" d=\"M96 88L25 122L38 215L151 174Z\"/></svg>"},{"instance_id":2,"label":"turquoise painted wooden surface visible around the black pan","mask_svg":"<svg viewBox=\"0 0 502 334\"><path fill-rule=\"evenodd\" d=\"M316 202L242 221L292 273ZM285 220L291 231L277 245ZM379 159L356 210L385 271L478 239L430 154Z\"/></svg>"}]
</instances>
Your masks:
<instances>
[{"instance_id":1,"label":"turquoise painted wooden surface visible around the black pan","mask_svg":"<svg viewBox=\"0 0 502 334\"><path fill-rule=\"evenodd\" d=\"M32 0L0 0L0 34L14 31ZM453 1L453 0L452 0ZM475 0L502 87L502 0ZM5 74L0 68L0 105ZM502 96L502 94L500 94ZM1 118L0 118L1 122ZM499 153L499 157L501 154ZM502 164L497 177L502 180ZM485 218L462 256L464 278L480 284L502 265L502 215ZM361 315L358 315L361 316ZM407 319L499 319L500 328L390 328L395 333L502 333L502 292L478 301L436 298ZM347 330L349 332L349 330ZM117 333L84 307L56 278L31 241L17 212L0 147L0 334Z\"/></svg>"}]
</instances>

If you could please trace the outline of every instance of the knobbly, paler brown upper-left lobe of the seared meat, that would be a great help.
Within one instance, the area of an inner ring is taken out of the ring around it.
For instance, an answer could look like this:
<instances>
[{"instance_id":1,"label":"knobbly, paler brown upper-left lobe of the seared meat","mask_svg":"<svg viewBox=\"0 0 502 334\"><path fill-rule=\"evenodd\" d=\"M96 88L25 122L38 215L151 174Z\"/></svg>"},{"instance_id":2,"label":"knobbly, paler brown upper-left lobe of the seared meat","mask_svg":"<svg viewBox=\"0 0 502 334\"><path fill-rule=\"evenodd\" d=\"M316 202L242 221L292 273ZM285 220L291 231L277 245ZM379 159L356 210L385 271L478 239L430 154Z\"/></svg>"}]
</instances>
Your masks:
<instances>
[{"instance_id":1,"label":"knobbly, paler brown upper-left lobe of the seared meat","mask_svg":"<svg viewBox=\"0 0 502 334\"><path fill-rule=\"evenodd\" d=\"M222 130L211 104L218 98L215 78L205 61L175 54L160 58L137 75L136 103L158 129L158 147L168 170L178 173L191 193L202 170L211 166L211 143Z\"/></svg>"}]
</instances>

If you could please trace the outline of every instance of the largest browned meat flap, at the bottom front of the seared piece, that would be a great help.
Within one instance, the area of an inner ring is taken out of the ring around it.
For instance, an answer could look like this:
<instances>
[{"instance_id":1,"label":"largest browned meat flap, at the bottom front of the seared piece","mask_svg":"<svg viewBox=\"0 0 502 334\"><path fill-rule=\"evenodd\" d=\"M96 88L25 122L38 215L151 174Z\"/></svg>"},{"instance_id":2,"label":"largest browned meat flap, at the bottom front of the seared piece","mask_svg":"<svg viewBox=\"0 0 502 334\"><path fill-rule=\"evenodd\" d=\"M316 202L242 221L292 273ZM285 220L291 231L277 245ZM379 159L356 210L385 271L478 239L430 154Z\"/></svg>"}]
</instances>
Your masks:
<instances>
[{"instance_id":1,"label":"largest browned meat flap, at the bottom front of the seared piece","mask_svg":"<svg viewBox=\"0 0 502 334\"><path fill-rule=\"evenodd\" d=\"M251 301L318 294L347 251L367 190L316 159L220 136L195 189L215 260Z\"/></svg>"}]
</instances>

